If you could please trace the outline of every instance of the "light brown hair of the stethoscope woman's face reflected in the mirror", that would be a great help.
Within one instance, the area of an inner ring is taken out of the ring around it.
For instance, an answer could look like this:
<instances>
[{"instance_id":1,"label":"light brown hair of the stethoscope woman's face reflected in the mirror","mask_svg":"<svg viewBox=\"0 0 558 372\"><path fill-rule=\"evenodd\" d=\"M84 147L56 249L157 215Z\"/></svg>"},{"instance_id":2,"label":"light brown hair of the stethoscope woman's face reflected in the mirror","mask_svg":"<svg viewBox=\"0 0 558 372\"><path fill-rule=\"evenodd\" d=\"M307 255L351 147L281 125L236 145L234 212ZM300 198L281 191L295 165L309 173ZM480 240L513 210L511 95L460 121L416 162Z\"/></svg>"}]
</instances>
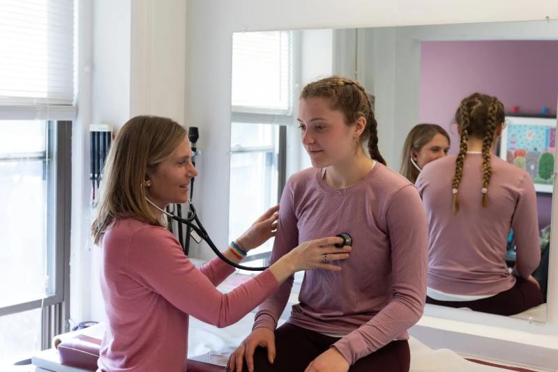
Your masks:
<instances>
[{"instance_id":1,"label":"light brown hair of the stethoscope woman's face reflected in the mirror","mask_svg":"<svg viewBox=\"0 0 558 372\"><path fill-rule=\"evenodd\" d=\"M418 169L416 169L416 167L414 167L411 162L411 150L414 150L416 153L418 153L425 144L428 144L428 142L432 141L436 134L442 134L448 140L448 144L451 143L448 132L446 132L443 127L440 127L437 124L417 124L413 127L409 134L407 134L405 144L403 144L401 168L399 169L399 173L405 176L407 180L411 181L412 183L416 182L416 178L418 178L418 174L420 174L421 172L418 171Z\"/></svg>"}]
</instances>

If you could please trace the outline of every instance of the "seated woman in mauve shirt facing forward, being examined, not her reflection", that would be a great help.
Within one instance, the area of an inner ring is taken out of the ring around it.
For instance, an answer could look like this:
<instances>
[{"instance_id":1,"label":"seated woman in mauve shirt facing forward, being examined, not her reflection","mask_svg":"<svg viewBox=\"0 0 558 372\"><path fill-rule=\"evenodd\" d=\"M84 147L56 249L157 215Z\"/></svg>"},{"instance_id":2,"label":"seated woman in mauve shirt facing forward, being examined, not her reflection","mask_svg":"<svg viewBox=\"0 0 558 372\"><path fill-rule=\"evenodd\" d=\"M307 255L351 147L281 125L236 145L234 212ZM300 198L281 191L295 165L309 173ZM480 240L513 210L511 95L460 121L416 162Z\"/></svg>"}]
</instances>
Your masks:
<instances>
[{"instance_id":1,"label":"seated woman in mauve shirt facing forward, being examined, not her reflection","mask_svg":"<svg viewBox=\"0 0 558 372\"><path fill-rule=\"evenodd\" d=\"M330 77L308 84L298 120L312 168L285 186L271 262L303 240L332 233L351 235L353 249L339 264L342 272L305 272L299 304L277 327L293 278L285 281L259 307L229 369L407 372L407 330L421 318L426 289L421 198L385 166L372 105L358 82Z\"/></svg>"}]
</instances>

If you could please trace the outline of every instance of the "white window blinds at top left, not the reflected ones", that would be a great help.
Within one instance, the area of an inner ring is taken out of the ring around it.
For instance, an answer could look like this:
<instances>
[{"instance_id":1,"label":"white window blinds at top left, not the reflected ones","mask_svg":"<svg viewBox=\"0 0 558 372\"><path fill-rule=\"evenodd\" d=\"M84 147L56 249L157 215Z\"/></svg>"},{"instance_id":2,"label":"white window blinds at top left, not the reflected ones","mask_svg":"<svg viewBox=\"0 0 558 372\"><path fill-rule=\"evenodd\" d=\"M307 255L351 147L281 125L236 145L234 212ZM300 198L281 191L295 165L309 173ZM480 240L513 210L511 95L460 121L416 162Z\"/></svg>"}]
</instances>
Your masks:
<instances>
[{"instance_id":1,"label":"white window blinds at top left, not the reflected ones","mask_svg":"<svg viewBox=\"0 0 558 372\"><path fill-rule=\"evenodd\" d=\"M71 120L73 0L0 0L0 119Z\"/></svg>"}]
</instances>

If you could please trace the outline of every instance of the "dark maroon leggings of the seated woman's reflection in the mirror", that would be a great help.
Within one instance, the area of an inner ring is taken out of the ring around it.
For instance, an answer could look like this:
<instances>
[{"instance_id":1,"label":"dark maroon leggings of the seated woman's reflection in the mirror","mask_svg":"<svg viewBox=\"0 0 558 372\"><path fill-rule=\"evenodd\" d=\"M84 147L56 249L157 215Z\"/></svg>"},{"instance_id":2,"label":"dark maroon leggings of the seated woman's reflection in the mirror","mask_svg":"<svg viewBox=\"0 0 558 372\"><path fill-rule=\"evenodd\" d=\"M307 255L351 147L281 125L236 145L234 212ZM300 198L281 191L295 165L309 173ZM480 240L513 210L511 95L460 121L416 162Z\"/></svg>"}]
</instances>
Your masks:
<instances>
[{"instance_id":1,"label":"dark maroon leggings of the seated woman's reflection in the mirror","mask_svg":"<svg viewBox=\"0 0 558 372\"><path fill-rule=\"evenodd\" d=\"M543 303L543 293L532 281L515 278L515 285L504 292L474 301L439 301L426 297L427 304L468 307L474 311L498 315L515 315Z\"/></svg>"}]
</instances>

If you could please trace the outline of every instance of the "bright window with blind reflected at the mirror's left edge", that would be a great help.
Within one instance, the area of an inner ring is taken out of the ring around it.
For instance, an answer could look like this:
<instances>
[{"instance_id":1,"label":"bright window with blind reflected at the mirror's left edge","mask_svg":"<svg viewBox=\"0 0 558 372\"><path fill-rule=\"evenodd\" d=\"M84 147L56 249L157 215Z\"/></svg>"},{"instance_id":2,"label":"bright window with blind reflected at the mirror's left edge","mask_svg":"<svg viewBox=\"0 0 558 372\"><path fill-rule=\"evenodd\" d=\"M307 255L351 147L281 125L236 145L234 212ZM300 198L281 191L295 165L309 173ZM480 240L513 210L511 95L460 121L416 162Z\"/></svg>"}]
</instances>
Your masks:
<instances>
[{"instance_id":1,"label":"bright window with blind reflected at the mirror's left edge","mask_svg":"<svg viewBox=\"0 0 558 372\"><path fill-rule=\"evenodd\" d=\"M229 240L238 238L285 186L287 125L293 121L293 33L234 33ZM244 264L269 261L273 239Z\"/></svg>"}]
</instances>

